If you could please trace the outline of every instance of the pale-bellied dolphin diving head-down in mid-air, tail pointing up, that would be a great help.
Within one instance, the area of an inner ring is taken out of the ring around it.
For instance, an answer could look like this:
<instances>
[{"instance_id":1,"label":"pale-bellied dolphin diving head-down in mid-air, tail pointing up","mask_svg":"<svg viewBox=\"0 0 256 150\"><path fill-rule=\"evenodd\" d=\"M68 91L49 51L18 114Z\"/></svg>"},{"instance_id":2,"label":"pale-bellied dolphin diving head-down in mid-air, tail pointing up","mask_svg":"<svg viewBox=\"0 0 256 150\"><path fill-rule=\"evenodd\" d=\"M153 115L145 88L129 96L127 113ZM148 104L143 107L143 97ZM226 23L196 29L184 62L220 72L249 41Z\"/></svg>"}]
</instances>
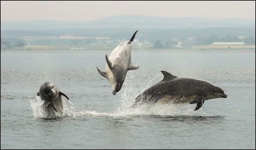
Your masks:
<instances>
[{"instance_id":1,"label":"pale-bellied dolphin diving head-down in mid-air, tail pointing up","mask_svg":"<svg viewBox=\"0 0 256 150\"><path fill-rule=\"evenodd\" d=\"M107 78L111 84L113 95L122 88L127 71L139 68L138 65L131 63L131 46L137 32L138 30L133 34L130 41L121 42L116 46L109 57L106 54L106 72L101 71L97 67L100 75Z\"/></svg>"}]
</instances>

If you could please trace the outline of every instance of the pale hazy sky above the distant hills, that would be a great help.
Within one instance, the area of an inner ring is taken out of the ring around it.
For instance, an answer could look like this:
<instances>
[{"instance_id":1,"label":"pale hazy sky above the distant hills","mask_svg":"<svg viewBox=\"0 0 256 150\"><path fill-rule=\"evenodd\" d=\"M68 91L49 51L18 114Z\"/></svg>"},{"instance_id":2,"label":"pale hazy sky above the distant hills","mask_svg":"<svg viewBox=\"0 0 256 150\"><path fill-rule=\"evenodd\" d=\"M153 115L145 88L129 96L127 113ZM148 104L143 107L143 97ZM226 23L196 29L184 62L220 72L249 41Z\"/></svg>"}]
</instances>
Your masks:
<instances>
[{"instance_id":1,"label":"pale hazy sky above the distant hills","mask_svg":"<svg viewBox=\"0 0 256 150\"><path fill-rule=\"evenodd\" d=\"M1 1L1 21L92 21L120 15L255 20L255 1Z\"/></svg>"}]
</instances>

